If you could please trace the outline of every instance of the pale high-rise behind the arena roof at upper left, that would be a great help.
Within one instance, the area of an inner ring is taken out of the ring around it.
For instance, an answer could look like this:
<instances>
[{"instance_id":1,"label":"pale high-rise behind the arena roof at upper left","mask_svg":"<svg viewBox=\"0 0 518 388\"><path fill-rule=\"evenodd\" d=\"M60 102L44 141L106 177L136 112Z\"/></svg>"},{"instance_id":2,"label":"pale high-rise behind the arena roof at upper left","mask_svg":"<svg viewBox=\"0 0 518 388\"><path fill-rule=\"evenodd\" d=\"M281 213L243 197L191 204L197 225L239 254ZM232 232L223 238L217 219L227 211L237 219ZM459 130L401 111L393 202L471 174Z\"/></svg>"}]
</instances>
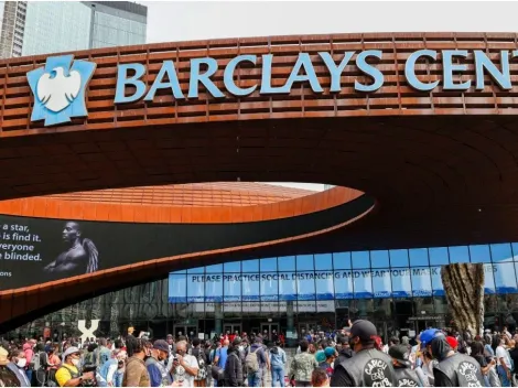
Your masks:
<instances>
[{"instance_id":1,"label":"pale high-rise behind the arena roof at upper left","mask_svg":"<svg viewBox=\"0 0 518 388\"><path fill-rule=\"evenodd\" d=\"M143 44L148 8L129 1L0 1L0 57L11 57Z\"/></svg>"}]
</instances>

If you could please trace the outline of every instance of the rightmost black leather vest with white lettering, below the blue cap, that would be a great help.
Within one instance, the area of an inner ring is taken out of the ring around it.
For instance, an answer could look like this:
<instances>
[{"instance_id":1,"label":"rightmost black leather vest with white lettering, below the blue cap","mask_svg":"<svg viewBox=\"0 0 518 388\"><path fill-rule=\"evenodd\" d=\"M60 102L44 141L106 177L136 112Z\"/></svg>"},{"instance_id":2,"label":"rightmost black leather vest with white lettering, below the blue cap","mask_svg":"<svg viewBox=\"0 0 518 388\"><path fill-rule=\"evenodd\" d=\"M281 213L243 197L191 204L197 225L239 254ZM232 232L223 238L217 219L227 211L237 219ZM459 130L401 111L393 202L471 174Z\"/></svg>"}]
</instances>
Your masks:
<instances>
[{"instance_id":1,"label":"rightmost black leather vest with white lettering, below the blue cap","mask_svg":"<svg viewBox=\"0 0 518 388\"><path fill-rule=\"evenodd\" d=\"M434 365L434 368L446 375L453 387L485 387L481 366L475 358L464 354L455 353Z\"/></svg>"}]
</instances>

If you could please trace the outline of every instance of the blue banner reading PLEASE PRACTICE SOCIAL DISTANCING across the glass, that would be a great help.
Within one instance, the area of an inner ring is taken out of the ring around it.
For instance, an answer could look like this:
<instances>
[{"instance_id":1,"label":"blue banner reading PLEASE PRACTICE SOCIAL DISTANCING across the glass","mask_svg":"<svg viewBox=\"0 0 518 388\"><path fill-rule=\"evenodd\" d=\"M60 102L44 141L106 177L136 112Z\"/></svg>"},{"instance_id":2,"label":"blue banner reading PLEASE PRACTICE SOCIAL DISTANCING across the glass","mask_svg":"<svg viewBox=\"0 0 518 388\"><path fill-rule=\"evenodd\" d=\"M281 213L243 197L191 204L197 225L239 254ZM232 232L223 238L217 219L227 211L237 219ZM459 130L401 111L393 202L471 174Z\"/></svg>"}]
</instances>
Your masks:
<instances>
[{"instance_id":1,"label":"blue banner reading PLEASE PRACTICE SOCIAL DISTANCING across the glass","mask_svg":"<svg viewBox=\"0 0 518 388\"><path fill-rule=\"evenodd\" d=\"M518 293L514 262L484 265L485 293ZM170 273L171 303L443 297L441 267L251 273Z\"/></svg>"}]
</instances>

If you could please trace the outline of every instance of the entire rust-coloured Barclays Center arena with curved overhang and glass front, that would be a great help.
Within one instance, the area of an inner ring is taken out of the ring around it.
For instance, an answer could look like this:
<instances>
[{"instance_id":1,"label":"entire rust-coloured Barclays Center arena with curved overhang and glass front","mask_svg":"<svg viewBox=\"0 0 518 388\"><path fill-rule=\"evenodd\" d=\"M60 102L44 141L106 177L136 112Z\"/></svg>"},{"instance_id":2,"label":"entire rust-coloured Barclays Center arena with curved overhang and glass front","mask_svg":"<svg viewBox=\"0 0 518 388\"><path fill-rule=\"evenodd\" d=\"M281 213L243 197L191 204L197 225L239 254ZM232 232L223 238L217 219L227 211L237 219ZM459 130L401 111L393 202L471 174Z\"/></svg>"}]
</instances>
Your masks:
<instances>
[{"instance_id":1,"label":"entire rust-coloured Barclays Center arena with curved overhang and glass front","mask_svg":"<svg viewBox=\"0 0 518 388\"><path fill-rule=\"evenodd\" d=\"M380 33L0 60L0 336L412 336L455 326L455 262L484 266L485 326L516 327L517 51ZM72 100L50 103L55 68Z\"/></svg>"}]
</instances>

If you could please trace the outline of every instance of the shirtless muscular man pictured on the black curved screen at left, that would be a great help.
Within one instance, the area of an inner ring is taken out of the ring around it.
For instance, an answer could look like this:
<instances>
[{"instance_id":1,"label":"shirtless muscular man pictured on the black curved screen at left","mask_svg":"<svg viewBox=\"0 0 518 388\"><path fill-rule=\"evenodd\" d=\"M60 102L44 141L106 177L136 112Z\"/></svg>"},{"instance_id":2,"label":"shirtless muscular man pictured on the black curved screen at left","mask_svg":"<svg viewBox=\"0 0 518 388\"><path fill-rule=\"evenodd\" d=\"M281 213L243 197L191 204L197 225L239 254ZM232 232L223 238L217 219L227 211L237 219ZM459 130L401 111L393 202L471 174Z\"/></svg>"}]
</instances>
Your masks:
<instances>
[{"instance_id":1,"label":"shirtless muscular man pictured on the black curved screen at left","mask_svg":"<svg viewBox=\"0 0 518 388\"><path fill-rule=\"evenodd\" d=\"M99 252L94 242L80 237L78 223L67 222L63 240L69 246L57 259L44 268L47 273L82 274L97 271Z\"/></svg>"}]
</instances>

